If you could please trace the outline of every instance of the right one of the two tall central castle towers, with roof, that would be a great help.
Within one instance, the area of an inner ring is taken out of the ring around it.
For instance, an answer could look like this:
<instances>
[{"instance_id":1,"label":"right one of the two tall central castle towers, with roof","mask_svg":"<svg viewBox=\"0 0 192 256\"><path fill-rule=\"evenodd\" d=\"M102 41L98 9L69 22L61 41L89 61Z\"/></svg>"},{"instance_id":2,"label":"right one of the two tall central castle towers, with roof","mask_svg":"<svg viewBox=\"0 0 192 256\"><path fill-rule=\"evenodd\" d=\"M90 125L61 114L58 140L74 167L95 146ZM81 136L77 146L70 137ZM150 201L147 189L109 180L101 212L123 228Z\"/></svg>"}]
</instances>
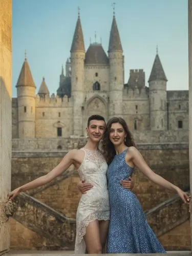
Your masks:
<instances>
[{"instance_id":1,"label":"right one of the two tall central castle towers, with roof","mask_svg":"<svg viewBox=\"0 0 192 256\"><path fill-rule=\"evenodd\" d=\"M109 60L110 60L110 92L109 92L109 118L122 116L122 92L123 92L123 50L115 13L110 32L109 41Z\"/></svg>"}]
</instances>

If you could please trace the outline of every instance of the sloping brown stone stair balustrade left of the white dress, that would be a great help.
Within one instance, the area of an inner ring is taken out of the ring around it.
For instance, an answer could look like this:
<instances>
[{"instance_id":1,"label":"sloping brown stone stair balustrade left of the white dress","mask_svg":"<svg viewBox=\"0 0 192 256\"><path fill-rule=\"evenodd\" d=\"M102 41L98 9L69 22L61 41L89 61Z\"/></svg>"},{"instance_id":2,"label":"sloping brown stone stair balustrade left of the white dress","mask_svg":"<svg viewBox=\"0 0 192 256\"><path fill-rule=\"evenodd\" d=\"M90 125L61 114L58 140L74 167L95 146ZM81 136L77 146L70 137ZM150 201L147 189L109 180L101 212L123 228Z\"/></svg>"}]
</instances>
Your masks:
<instances>
[{"instance_id":1,"label":"sloping brown stone stair balustrade left of the white dress","mask_svg":"<svg viewBox=\"0 0 192 256\"><path fill-rule=\"evenodd\" d=\"M47 238L44 249L74 248L76 221L25 193L18 196L17 210L12 218Z\"/></svg>"}]
</instances>

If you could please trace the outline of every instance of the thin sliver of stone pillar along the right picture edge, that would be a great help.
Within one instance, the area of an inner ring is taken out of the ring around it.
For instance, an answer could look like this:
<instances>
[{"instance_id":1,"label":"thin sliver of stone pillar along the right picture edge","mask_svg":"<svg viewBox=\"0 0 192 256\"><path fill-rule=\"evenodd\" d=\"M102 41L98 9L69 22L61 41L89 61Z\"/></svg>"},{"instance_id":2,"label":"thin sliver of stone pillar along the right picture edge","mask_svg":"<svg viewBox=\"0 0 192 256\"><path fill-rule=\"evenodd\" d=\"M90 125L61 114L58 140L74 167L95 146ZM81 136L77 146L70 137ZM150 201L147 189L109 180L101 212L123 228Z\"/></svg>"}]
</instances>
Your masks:
<instances>
[{"instance_id":1,"label":"thin sliver of stone pillar along the right picture edge","mask_svg":"<svg viewBox=\"0 0 192 256\"><path fill-rule=\"evenodd\" d=\"M192 0L188 0L188 67L189 67L189 168L192 195ZM190 201L190 230L192 251L192 198Z\"/></svg>"}]
</instances>

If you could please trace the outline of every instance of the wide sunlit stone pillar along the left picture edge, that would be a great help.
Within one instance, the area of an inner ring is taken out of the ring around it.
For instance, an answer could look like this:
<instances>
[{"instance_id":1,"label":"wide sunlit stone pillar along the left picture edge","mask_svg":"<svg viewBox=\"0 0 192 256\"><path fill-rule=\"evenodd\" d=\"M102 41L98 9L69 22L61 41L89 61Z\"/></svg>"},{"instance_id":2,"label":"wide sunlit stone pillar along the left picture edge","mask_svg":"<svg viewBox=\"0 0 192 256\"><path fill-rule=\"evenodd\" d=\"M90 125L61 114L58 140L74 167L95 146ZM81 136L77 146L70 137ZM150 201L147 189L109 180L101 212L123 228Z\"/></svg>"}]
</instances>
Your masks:
<instances>
[{"instance_id":1,"label":"wide sunlit stone pillar along the left picture edge","mask_svg":"<svg viewBox=\"0 0 192 256\"><path fill-rule=\"evenodd\" d=\"M9 250L5 202L11 186L11 17L12 1L0 0L0 254Z\"/></svg>"}]
</instances>

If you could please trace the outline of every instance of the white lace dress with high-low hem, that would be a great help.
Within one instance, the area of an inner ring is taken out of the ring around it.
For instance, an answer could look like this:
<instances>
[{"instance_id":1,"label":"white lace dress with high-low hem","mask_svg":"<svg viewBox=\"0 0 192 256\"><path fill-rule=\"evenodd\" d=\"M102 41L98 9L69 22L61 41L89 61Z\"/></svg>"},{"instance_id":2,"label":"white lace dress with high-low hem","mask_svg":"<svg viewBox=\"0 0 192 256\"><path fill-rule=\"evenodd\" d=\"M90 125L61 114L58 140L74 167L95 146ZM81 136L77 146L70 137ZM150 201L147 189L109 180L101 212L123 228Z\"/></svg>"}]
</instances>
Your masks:
<instances>
[{"instance_id":1,"label":"white lace dress with high-low hem","mask_svg":"<svg viewBox=\"0 0 192 256\"><path fill-rule=\"evenodd\" d=\"M106 180L106 170L108 165L101 152L84 151L84 159L78 168L80 179L92 183L94 186L83 194L78 204L76 216L76 240L75 254L84 254L86 244L83 236L86 234L86 227L94 220L109 220L109 194Z\"/></svg>"}]
</instances>

